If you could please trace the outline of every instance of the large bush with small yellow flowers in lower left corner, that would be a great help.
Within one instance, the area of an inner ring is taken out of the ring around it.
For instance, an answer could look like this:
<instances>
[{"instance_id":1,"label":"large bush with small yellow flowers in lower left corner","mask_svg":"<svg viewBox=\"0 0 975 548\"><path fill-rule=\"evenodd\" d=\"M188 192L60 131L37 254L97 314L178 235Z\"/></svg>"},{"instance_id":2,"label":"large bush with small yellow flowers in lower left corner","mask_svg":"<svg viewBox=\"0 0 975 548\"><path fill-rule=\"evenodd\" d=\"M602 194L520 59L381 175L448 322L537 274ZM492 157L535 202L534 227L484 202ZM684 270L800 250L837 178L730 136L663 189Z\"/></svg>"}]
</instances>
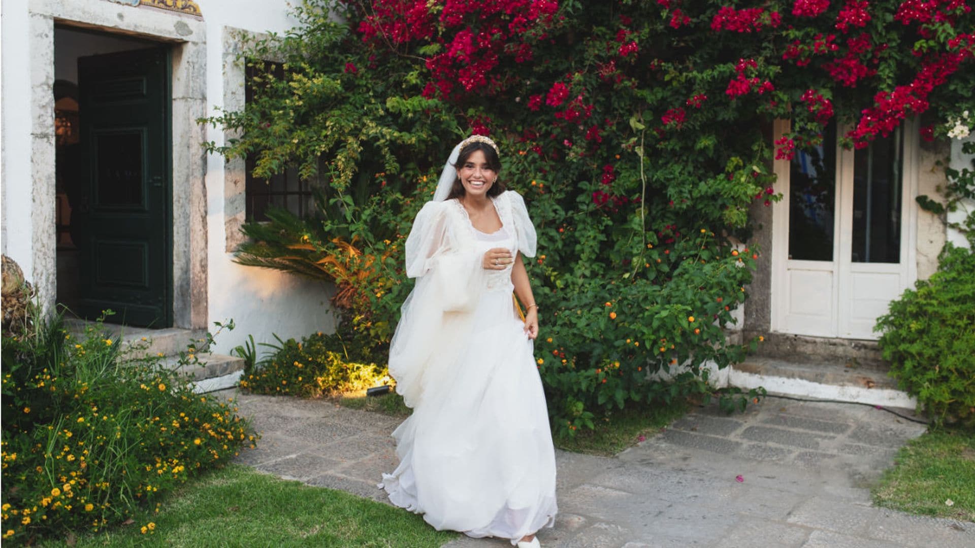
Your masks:
<instances>
[{"instance_id":1,"label":"large bush with small yellow flowers in lower left corner","mask_svg":"<svg viewBox=\"0 0 975 548\"><path fill-rule=\"evenodd\" d=\"M60 316L40 323L3 337L5 541L121 523L254 442L232 402L160 357L121 353L100 326L76 338Z\"/></svg>"}]
</instances>

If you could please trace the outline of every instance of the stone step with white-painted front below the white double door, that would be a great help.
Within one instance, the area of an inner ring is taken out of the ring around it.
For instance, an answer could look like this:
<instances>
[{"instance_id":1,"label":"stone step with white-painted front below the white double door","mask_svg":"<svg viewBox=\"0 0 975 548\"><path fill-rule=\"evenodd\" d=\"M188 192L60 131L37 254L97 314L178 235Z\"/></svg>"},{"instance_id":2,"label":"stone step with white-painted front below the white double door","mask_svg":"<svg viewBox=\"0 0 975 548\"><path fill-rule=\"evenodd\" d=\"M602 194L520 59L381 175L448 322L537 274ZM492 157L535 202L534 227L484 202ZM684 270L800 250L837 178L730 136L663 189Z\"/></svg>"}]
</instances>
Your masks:
<instances>
[{"instance_id":1,"label":"stone step with white-painted front below the white double door","mask_svg":"<svg viewBox=\"0 0 975 548\"><path fill-rule=\"evenodd\" d=\"M917 400L897 388L879 365L856 362L787 361L751 357L725 369L722 380L739 388L763 387L771 394L816 400L836 400L883 407L914 408Z\"/></svg>"}]
</instances>

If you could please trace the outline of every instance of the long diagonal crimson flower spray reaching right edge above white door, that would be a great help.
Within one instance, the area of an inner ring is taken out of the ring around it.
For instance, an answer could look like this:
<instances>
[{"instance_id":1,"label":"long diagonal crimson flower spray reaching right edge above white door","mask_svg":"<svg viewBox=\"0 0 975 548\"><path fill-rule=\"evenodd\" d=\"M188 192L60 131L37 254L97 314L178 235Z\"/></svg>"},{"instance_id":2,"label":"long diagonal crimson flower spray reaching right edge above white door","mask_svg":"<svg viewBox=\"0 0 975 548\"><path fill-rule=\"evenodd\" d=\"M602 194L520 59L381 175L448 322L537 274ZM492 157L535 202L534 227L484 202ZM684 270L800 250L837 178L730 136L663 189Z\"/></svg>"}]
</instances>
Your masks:
<instances>
[{"instance_id":1,"label":"long diagonal crimson flower spray reaching right edge above white door","mask_svg":"<svg viewBox=\"0 0 975 548\"><path fill-rule=\"evenodd\" d=\"M879 92L875 106L862 111L857 127L846 134L856 148L864 148L878 135L887 137L909 114L920 114L929 106L927 97L958 69L958 64L972 57L972 46L957 53L941 54L921 66L914 81L897 86L893 92Z\"/></svg>"}]
</instances>

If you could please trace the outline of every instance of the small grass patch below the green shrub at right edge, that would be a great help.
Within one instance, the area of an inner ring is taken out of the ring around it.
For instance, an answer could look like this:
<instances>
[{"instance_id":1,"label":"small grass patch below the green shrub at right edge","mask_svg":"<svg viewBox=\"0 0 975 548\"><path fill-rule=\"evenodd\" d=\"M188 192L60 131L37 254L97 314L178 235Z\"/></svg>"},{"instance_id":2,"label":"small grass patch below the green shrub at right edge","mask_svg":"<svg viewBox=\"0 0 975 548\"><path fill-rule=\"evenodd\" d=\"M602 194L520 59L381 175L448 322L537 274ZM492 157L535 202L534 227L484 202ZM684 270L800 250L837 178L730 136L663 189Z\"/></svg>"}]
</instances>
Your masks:
<instances>
[{"instance_id":1,"label":"small grass patch below the green shrub at right edge","mask_svg":"<svg viewBox=\"0 0 975 548\"><path fill-rule=\"evenodd\" d=\"M873 494L879 506L975 522L975 434L936 431L912 440Z\"/></svg>"}]
</instances>

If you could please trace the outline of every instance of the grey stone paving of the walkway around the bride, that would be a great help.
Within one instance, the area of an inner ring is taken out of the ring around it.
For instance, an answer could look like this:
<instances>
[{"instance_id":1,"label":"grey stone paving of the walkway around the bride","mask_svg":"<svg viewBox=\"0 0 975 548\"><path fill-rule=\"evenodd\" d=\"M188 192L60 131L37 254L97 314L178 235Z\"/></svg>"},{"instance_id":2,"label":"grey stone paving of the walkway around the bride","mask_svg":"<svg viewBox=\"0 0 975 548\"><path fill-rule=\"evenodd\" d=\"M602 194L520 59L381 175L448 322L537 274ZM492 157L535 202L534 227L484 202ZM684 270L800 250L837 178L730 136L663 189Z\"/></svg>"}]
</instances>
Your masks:
<instances>
[{"instance_id":1,"label":"grey stone paving of the walkway around the bride","mask_svg":"<svg viewBox=\"0 0 975 548\"><path fill-rule=\"evenodd\" d=\"M240 395L262 439L238 462L386 502L399 419L327 401ZM910 415L910 411L897 410ZM869 484L924 431L886 411L769 397L695 410L615 457L557 451L560 513L543 546L975 547L975 524L876 508ZM510 544L461 536L449 548Z\"/></svg>"}]
</instances>

